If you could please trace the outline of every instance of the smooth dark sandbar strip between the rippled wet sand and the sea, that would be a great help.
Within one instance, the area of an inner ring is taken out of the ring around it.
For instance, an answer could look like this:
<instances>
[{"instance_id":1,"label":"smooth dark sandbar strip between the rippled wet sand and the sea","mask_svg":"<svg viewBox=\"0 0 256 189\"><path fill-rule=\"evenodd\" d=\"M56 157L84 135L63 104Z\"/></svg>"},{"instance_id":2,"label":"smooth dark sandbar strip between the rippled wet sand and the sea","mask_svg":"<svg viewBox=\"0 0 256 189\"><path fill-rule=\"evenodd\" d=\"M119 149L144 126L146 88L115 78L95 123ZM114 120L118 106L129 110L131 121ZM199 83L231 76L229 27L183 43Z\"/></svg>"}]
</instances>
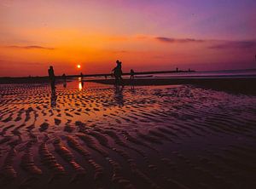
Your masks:
<instances>
[{"instance_id":1,"label":"smooth dark sandbar strip between the rippled wet sand and the sea","mask_svg":"<svg viewBox=\"0 0 256 189\"><path fill-rule=\"evenodd\" d=\"M114 79L87 79L85 81L112 84ZM131 80L125 78L125 85L131 85ZM216 89L236 94L256 95L256 77L166 77L166 78L136 78L134 85L170 85L192 84L205 89Z\"/></svg>"}]
</instances>

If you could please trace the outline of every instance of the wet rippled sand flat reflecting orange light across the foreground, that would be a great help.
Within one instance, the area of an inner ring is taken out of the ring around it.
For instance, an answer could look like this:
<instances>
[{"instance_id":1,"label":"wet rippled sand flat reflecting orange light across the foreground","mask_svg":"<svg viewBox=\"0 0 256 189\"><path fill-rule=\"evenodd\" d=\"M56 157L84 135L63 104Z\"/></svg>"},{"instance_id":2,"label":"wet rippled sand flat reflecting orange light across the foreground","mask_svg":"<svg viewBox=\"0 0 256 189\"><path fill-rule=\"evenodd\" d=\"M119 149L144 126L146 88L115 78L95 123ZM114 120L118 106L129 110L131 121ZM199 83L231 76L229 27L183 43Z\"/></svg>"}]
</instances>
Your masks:
<instances>
[{"instance_id":1,"label":"wet rippled sand flat reflecting orange light across the foreground","mask_svg":"<svg viewBox=\"0 0 256 189\"><path fill-rule=\"evenodd\" d=\"M0 85L0 188L253 188L256 97Z\"/></svg>"}]
</instances>

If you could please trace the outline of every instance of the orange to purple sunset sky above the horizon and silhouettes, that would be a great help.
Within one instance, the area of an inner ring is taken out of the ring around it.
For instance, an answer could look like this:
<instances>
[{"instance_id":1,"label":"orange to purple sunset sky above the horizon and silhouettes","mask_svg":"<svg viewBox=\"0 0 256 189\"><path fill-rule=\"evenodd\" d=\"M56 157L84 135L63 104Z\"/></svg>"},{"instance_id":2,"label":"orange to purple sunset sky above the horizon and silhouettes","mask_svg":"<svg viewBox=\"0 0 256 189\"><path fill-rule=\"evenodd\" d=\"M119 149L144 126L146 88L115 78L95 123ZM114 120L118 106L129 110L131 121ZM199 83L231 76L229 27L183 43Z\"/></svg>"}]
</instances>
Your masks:
<instances>
[{"instance_id":1,"label":"orange to purple sunset sky above the horizon and silhouettes","mask_svg":"<svg viewBox=\"0 0 256 189\"><path fill-rule=\"evenodd\" d=\"M255 0L0 0L0 77L256 68ZM81 68L78 70L77 65Z\"/></svg>"}]
</instances>

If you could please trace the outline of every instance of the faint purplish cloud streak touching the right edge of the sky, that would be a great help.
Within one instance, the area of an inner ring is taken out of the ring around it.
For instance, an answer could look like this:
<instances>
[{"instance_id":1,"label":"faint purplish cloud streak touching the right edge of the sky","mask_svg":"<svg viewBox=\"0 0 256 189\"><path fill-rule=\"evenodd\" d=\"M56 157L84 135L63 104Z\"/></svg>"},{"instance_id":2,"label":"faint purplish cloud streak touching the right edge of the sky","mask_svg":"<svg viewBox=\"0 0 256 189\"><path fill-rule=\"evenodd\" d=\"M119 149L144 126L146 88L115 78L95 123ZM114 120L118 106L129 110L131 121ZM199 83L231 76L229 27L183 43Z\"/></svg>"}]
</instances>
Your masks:
<instances>
[{"instance_id":1,"label":"faint purplish cloud streak touching the right edge of the sky","mask_svg":"<svg viewBox=\"0 0 256 189\"><path fill-rule=\"evenodd\" d=\"M228 41L228 42L215 44L209 47L209 49L252 49L252 48L256 48L256 40Z\"/></svg>"}]
</instances>

